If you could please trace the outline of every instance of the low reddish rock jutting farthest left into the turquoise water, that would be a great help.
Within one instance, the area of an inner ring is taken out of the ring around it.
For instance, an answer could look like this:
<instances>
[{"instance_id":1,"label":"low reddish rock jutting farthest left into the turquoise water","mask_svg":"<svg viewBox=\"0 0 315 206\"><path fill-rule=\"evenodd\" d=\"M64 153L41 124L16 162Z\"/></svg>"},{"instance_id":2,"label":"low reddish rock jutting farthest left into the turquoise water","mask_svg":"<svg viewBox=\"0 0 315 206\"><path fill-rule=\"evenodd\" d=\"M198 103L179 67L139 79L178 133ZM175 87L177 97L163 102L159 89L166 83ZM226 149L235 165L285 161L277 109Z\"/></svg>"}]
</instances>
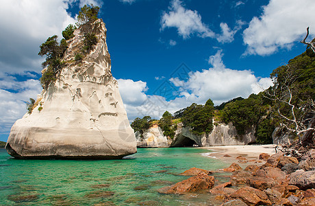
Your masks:
<instances>
[{"instance_id":1,"label":"low reddish rock jutting farthest left into the turquoise water","mask_svg":"<svg viewBox=\"0 0 315 206\"><path fill-rule=\"evenodd\" d=\"M198 174L184 181L176 183L168 187L162 187L157 192L162 194L183 194L186 192L195 192L199 190L207 190L214 185L214 177L206 174Z\"/></svg>"}]
</instances>

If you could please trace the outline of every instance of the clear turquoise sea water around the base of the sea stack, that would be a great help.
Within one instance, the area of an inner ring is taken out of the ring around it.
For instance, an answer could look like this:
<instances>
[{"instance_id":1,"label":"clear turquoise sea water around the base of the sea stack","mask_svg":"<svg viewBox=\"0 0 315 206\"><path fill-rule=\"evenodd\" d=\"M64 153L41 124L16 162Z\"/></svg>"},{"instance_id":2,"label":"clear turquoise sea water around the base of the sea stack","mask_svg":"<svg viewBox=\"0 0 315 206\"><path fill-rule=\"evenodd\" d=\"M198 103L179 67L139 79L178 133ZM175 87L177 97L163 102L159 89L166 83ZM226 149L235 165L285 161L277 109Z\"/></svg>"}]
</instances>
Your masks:
<instances>
[{"instance_id":1,"label":"clear turquoise sea water around the base of the sea stack","mask_svg":"<svg viewBox=\"0 0 315 206\"><path fill-rule=\"evenodd\" d=\"M216 205L209 193L159 194L189 168L226 163L202 148L139 148L129 159L19 160L0 149L0 205ZM224 179L224 177L222 177ZM220 180L220 176L216 176Z\"/></svg>"}]
</instances>

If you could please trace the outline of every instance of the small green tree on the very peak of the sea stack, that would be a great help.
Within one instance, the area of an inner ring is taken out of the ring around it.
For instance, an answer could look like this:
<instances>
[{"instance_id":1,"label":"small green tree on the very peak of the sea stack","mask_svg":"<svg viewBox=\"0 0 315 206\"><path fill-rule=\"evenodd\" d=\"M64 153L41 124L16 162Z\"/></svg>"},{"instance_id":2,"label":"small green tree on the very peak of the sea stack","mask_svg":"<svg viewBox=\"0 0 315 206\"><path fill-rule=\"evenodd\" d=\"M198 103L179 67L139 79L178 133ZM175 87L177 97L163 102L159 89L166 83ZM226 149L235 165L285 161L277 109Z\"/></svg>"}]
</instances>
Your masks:
<instances>
[{"instance_id":1,"label":"small green tree on the very peak of the sea stack","mask_svg":"<svg viewBox=\"0 0 315 206\"><path fill-rule=\"evenodd\" d=\"M77 16L77 25L82 25L89 22L94 22L97 20L97 15L99 14L99 7L94 6L93 4L84 5L83 8L79 11L79 15Z\"/></svg>"}]
</instances>

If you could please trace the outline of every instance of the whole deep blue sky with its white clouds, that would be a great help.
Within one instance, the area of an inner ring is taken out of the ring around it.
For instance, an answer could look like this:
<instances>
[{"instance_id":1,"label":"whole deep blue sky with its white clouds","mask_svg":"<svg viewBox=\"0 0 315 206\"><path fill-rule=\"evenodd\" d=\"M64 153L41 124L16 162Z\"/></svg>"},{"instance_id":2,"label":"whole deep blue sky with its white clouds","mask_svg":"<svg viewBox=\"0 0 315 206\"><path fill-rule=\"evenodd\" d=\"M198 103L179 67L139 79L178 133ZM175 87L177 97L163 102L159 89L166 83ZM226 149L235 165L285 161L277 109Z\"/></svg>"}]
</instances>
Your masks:
<instances>
[{"instance_id":1,"label":"whole deep blue sky with its white clouds","mask_svg":"<svg viewBox=\"0 0 315 206\"><path fill-rule=\"evenodd\" d=\"M2 0L0 140L42 91L39 45L62 36L86 3L101 7L129 119L247 98L305 51L307 26L315 36L313 0Z\"/></svg>"}]
</instances>

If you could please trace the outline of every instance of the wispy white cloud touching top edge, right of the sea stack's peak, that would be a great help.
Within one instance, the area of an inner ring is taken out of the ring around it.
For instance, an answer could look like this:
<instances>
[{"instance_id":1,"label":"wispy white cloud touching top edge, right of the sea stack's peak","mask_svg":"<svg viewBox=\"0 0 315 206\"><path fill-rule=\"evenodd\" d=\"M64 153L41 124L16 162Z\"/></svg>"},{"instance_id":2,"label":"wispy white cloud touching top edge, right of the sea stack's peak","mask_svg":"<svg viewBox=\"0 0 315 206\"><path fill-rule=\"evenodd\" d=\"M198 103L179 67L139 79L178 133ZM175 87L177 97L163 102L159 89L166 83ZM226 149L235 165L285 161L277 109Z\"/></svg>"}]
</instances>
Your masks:
<instances>
[{"instance_id":1,"label":"wispy white cloud touching top edge, right of the sea stack's peak","mask_svg":"<svg viewBox=\"0 0 315 206\"><path fill-rule=\"evenodd\" d=\"M197 11L184 8L179 0L171 1L168 12L164 12L161 19L161 29L176 27L177 32L183 38L191 34L199 34L203 37L214 37L215 34L201 21L201 15Z\"/></svg>"}]
</instances>

